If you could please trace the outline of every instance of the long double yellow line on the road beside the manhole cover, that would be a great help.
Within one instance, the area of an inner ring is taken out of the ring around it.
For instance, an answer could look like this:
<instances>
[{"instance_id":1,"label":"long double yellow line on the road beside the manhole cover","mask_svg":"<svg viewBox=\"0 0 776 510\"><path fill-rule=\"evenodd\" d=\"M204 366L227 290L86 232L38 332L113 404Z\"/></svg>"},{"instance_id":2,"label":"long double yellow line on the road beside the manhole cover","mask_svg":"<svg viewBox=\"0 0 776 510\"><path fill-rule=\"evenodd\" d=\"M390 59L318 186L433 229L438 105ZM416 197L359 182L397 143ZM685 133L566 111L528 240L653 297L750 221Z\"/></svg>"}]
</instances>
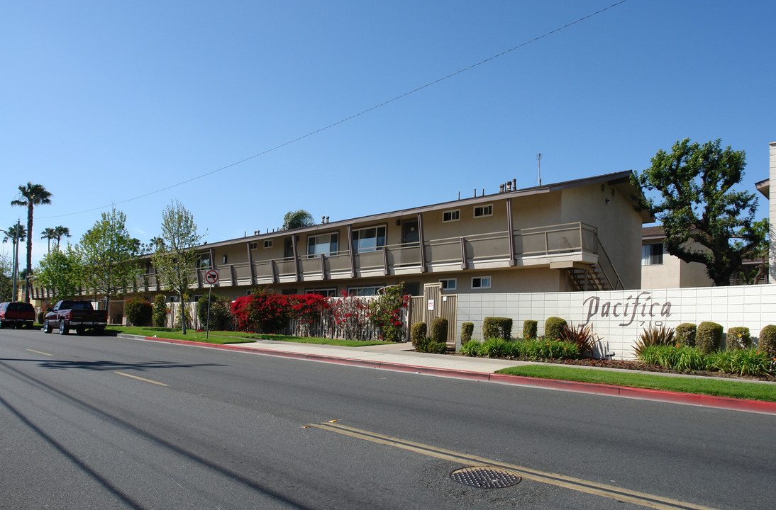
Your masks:
<instances>
[{"instance_id":1,"label":"long double yellow line on the road beside the manhole cover","mask_svg":"<svg viewBox=\"0 0 776 510\"><path fill-rule=\"evenodd\" d=\"M558 487L568 488L573 491L580 491L587 494L594 494L604 498L611 498L615 499L616 501L633 503L634 505L640 505L646 508L658 508L659 510L715 510L714 508L703 505L695 505L694 503L688 503L685 501L662 498L654 494L631 491L629 489L615 487L614 485L599 484L598 482L594 481L567 477L563 474L548 473L534 470L528 467L516 466L514 464L501 462L499 460L490 460L484 457L476 457L466 453L445 450L423 443L414 443L413 441L407 441L406 439L383 436L383 434L378 434L376 432L354 429L352 427L334 424L333 422L310 423L310 426L316 427L317 429L337 432L338 434L343 434L345 436L364 439L365 441L371 441L372 443L395 446L402 450L421 453L423 455L428 455L429 457L435 457L442 460L451 460L452 462L462 463L465 465L478 463L485 467L499 467L501 469L514 471L514 473L519 474L521 477L524 477L528 480L539 481L545 484L552 484Z\"/></svg>"}]
</instances>

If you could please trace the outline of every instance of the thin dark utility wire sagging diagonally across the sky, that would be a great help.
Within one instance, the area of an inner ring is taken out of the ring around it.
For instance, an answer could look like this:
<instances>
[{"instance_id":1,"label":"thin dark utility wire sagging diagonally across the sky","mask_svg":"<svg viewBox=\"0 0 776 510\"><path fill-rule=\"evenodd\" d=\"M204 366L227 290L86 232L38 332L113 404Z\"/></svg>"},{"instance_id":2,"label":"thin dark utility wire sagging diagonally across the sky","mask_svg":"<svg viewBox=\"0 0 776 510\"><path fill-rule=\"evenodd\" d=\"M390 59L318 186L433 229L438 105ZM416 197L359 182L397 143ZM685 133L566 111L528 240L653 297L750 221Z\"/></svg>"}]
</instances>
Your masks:
<instances>
[{"instance_id":1,"label":"thin dark utility wire sagging diagonally across the sky","mask_svg":"<svg viewBox=\"0 0 776 510\"><path fill-rule=\"evenodd\" d=\"M445 81L445 80L447 80L449 78L453 78L454 76L457 76L459 74L465 73L466 71L471 71L475 67L478 67L478 66L481 66L482 64L486 64L487 62L490 62L490 60L495 60L498 57L504 57L504 55L506 55L507 53L511 53L514 50L519 50L522 47L528 46L528 44L535 43L538 40L542 40L542 39L544 39L547 36L553 35L553 33L558 33L558 32L560 32L563 29L567 29L570 26L574 26L577 23L583 22L586 19L590 19L593 16L601 14L601 12L608 11L609 9L617 7L620 4L624 4L625 2L627 2L627 0L620 0L619 2L615 2L614 4L611 4L608 7L605 7L604 9L600 9L600 10L598 10L596 12L592 12L591 14L588 14L587 16L583 16L580 19L577 19L576 21L573 21L573 22L570 22L570 23L566 23L566 25L563 25L563 26L561 26L559 28L556 28L554 30L550 30L549 32L544 33L541 36L534 37L532 40L525 41L525 43L518 44L518 46L511 47L510 49L504 50L501 53L497 53L497 54L495 54L492 57L486 58L485 60L480 60L476 64L472 64L469 67L464 67L464 68L460 69L459 71L456 71L454 73L448 74L445 77L438 78L435 81L430 81L427 84L421 85L418 88L414 88L411 91L404 92L404 94L397 95L393 99L389 99L389 100L387 100L385 102L379 103L379 105L374 105L371 108L362 110L361 112L358 112L358 113L355 113L353 115L350 115L349 117L345 117L345 119L338 120L337 122L329 124L328 126L322 127L320 129L316 129L315 131L310 131L310 133L307 133L306 135L302 135L302 136L299 136L297 138L294 138L293 140L289 140L289 141L287 141L285 143L281 143L280 145L276 145L276 146L272 147L271 149L267 149L267 150L264 150L264 151L262 151L260 153L254 154L253 156L246 157L243 160L239 160L239 161L235 161L234 163L227 164L225 167L220 167L220 168L217 168L215 170L206 172L204 174L197 175L196 177L191 177L190 179L186 179L185 181L180 181L180 182L175 183L175 184L170 184L169 186L167 186L165 188L159 188L158 190L155 190L155 191L149 191L148 193L145 193L144 195L137 195L137 197L126 198L126 200L122 200L120 202L114 202L111 205L102 205L101 207L95 207L95 208L91 208L91 209L84 209L83 211L78 211L78 212L68 212L67 214L62 214L62 215L43 216L41 219L61 218L63 216L72 216L72 215L77 215L77 214L83 214L84 212L99 211L100 209L104 209L104 208L108 208L108 207L114 207L114 206L119 205L119 204L125 204L126 202L133 202L134 200L139 200L140 198L145 198L145 197L148 197L148 196L151 196L151 195L156 195L157 193L161 193L162 191L167 191L168 189L171 189L171 188L177 188L178 186L182 186L183 184L188 184L189 182L196 181L196 180L201 179L203 177L207 177L208 175L216 174L217 172L227 170L227 168L236 167L238 164L243 164L246 161L250 161L250 160L255 159L257 157L260 157L260 156L264 156L265 154L271 153L274 150L282 149L282 147L285 147L287 145L291 145L292 143L299 142L300 140L304 140L305 138L309 138L310 136L317 135L318 133L321 133L322 131L326 131L327 129L331 129L331 128L335 127L335 126L339 126L340 124L344 124L345 122L348 122L349 120L352 120L352 119L355 119L357 117L360 117L361 115L365 115L365 114L367 114L369 112L372 112L372 111L374 111L376 109L379 109L379 108L381 108L381 107L383 107L385 105L390 105L390 103L392 103L392 102L398 101L399 99L402 99L402 98L406 98L408 95L414 94L415 92L419 92L419 91L423 90L424 88L429 88L432 85L438 84L441 81Z\"/></svg>"}]
</instances>

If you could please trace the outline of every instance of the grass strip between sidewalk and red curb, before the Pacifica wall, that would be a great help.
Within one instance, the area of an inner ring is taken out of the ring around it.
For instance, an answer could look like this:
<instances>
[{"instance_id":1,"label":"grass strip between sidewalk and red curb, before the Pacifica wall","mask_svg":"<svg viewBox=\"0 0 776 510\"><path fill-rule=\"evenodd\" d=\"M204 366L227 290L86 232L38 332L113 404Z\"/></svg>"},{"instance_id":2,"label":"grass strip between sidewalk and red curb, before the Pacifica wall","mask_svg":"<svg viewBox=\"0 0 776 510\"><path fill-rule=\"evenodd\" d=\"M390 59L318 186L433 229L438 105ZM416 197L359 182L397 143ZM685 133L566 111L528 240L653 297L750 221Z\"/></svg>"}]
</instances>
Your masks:
<instances>
[{"instance_id":1,"label":"grass strip between sidewalk and red curb, before the Pacifica wall","mask_svg":"<svg viewBox=\"0 0 776 510\"><path fill-rule=\"evenodd\" d=\"M525 365L497 370L497 374L558 379L595 384L611 384L628 388L678 391L696 395L743 398L745 400L776 401L776 384L721 381L706 377L676 377L657 374L628 374L614 370L595 370L577 367L549 367Z\"/></svg>"}]
</instances>

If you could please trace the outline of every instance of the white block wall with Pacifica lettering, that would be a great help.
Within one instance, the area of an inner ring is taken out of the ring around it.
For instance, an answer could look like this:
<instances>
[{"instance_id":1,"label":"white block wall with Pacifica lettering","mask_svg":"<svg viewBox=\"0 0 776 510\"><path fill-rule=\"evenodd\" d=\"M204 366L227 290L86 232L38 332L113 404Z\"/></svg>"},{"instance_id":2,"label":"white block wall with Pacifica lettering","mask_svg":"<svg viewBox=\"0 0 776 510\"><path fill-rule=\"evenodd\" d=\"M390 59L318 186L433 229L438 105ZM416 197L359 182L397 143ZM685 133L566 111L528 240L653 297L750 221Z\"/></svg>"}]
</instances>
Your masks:
<instances>
[{"instance_id":1,"label":"white block wall with Pacifica lettering","mask_svg":"<svg viewBox=\"0 0 776 510\"><path fill-rule=\"evenodd\" d=\"M746 326L753 337L759 336L764 326L776 324L776 286L458 295L457 331L463 322L473 322L474 339L482 339L485 317L511 318L517 336L526 319L539 322L543 334L544 322L552 316L574 326L591 324L601 338L598 355L614 351L616 359L632 360L633 345L650 323L674 328L682 322L712 321L726 331Z\"/></svg>"}]
</instances>

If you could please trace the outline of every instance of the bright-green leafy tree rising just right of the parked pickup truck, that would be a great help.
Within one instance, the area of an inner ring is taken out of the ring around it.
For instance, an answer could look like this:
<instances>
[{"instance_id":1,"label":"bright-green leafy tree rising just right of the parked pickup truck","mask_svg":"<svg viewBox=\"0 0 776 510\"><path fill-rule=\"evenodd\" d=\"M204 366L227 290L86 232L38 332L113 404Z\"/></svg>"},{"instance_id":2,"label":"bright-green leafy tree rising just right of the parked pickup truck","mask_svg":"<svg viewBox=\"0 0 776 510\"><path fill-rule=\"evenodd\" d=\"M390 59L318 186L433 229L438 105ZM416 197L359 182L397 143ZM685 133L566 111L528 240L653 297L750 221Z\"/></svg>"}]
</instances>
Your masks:
<instances>
[{"instance_id":1,"label":"bright-green leafy tree rising just right of the parked pickup truck","mask_svg":"<svg viewBox=\"0 0 776 510\"><path fill-rule=\"evenodd\" d=\"M83 267L83 281L104 295L106 309L111 298L131 288L138 273L137 239L126 229L126 215L113 208L81 237L77 250Z\"/></svg>"}]
</instances>

